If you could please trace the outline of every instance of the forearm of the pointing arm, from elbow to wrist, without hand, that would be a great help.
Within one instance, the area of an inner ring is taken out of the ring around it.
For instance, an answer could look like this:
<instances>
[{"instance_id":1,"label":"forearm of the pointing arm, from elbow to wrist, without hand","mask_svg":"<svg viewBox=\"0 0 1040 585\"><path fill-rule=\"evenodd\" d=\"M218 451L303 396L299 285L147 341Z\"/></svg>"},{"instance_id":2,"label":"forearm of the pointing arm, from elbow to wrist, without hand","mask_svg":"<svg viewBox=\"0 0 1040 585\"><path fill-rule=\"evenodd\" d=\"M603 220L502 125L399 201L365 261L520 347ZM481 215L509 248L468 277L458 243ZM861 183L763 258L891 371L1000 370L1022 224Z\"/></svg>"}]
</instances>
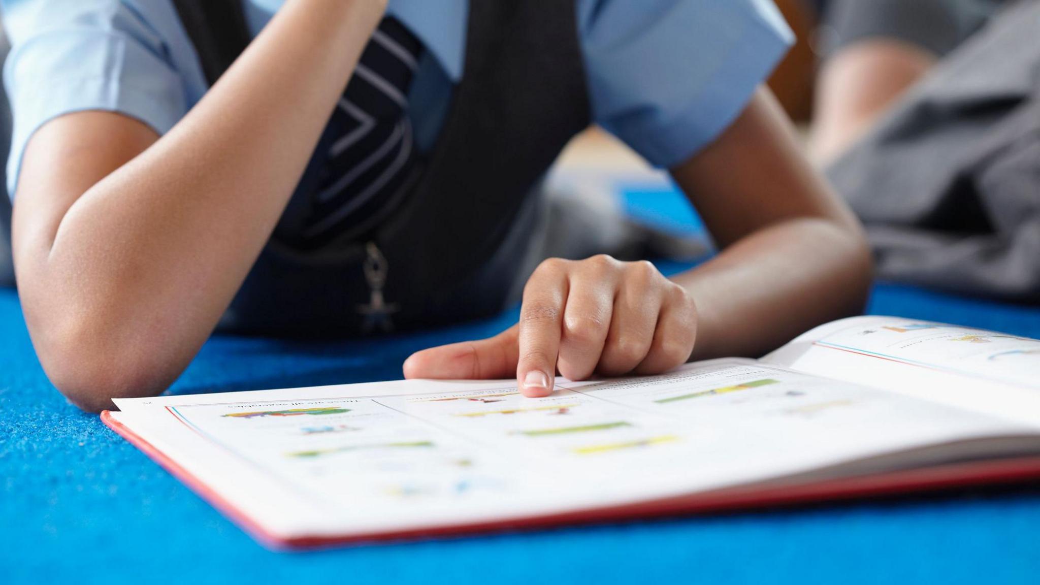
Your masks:
<instances>
[{"instance_id":1,"label":"forearm of the pointing arm, from elbow to wrist, without hand","mask_svg":"<svg viewBox=\"0 0 1040 585\"><path fill-rule=\"evenodd\" d=\"M786 221L742 239L672 278L697 305L691 359L759 356L861 311L869 265L859 234L825 219Z\"/></svg>"}]
</instances>

